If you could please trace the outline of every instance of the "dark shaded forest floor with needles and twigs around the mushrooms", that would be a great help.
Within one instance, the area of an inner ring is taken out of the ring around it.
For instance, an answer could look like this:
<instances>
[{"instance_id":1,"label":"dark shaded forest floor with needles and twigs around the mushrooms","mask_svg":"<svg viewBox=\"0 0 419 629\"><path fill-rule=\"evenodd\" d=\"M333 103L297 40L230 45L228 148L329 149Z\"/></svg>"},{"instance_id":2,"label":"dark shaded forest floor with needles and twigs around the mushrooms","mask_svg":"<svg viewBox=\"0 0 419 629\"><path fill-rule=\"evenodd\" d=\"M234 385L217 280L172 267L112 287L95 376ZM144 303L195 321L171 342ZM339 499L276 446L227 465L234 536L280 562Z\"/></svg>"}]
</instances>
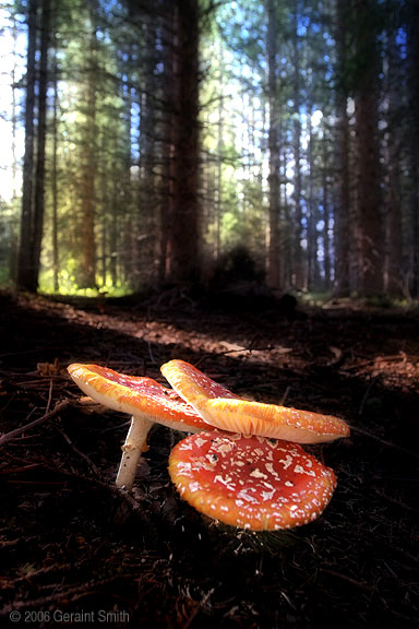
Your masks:
<instances>
[{"instance_id":1,"label":"dark shaded forest floor with needles and twigs around the mushrooms","mask_svg":"<svg viewBox=\"0 0 419 629\"><path fill-rule=\"evenodd\" d=\"M418 626L418 311L2 293L0 334L1 434L52 412L0 446L1 626ZM250 533L201 517L167 472L181 434L159 426L132 495L116 489L128 417L83 405L65 368L164 382L175 357L348 422L350 438L308 448L338 477L319 520Z\"/></svg>"}]
</instances>

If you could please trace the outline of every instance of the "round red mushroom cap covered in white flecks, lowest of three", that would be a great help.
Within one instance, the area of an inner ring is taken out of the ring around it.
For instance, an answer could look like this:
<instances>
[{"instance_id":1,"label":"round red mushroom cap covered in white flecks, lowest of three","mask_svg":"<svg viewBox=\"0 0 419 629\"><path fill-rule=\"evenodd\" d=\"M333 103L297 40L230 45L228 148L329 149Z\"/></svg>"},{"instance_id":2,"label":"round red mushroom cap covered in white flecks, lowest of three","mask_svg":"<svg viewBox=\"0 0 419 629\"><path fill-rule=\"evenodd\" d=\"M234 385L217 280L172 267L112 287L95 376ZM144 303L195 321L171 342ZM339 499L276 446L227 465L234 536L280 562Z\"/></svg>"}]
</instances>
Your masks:
<instances>
[{"instance_id":1,"label":"round red mushroom cap covered in white flecks, lowest of three","mask_svg":"<svg viewBox=\"0 0 419 629\"><path fill-rule=\"evenodd\" d=\"M180 441L170 453L169 473L197 511L252 531L308 524L336 486L333 471L297 443L217 430Z\"/></svg>"}]
</instances>

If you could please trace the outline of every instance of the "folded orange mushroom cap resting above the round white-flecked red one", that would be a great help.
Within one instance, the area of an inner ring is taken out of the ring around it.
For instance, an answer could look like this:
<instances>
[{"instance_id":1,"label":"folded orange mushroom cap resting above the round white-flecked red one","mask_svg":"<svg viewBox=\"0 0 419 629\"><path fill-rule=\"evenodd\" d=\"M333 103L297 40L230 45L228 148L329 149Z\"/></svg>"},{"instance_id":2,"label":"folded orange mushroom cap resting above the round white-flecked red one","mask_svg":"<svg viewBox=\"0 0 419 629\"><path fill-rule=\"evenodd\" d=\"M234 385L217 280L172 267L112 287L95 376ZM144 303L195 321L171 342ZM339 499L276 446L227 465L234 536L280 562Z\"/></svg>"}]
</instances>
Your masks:
<instances>
[{"instance_id":1,"label":"folded orange mushroom cap resting above the round white-flecked red one","mask_svg":"<svg viewBox=\"0 0 419 629\"><path fill-rule=\"evenodd\" d=\"M333 441L349 435L338 417L238 397L184 360L160 368L175 391L215 428L298 443Z\"/></svg>"}]
</instances>

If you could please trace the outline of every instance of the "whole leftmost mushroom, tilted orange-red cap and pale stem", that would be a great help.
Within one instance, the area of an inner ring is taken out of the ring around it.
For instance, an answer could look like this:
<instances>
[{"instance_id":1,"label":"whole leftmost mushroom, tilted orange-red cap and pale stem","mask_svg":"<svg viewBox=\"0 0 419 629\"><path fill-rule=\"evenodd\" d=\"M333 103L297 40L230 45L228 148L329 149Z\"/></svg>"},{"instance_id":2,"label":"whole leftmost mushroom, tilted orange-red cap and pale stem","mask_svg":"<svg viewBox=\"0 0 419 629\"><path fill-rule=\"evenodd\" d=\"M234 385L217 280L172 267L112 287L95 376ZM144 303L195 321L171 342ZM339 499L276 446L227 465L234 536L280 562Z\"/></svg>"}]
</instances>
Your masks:
<instances>
[{"instance_id":1,"label":"whole leftmost mushroom, tilted orange-red cap and pale stem","mask_svg":"<svg viewBox=\"0 0 419 629\"><path fill-rule=\"evenodd\" d=\"M175 391L151 378L118 373L98 365L70 365L68 371L80 389L108 408L129 413L130 429L122 446L117 486L131 489L141 453L154 423L176 430L197 432L207 424Z\"/></svg>"}]
</instances>

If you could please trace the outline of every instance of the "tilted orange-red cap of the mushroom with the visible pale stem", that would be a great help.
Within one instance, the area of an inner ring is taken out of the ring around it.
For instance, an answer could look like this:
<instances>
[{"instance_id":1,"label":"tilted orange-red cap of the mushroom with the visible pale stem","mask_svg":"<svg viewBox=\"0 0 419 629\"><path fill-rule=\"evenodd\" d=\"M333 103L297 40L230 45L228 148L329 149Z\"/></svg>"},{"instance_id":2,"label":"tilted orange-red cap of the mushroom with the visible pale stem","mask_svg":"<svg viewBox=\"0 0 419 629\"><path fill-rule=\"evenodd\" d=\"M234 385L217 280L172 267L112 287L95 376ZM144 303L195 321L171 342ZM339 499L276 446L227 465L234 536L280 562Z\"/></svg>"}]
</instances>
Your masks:
<instances>
[{"instance_id":1,"label":"tilted orange-red cap of the mushroom with the visible pale stem","mask_svg":"<svg viewBox=\"0 0 419 629\"><path fill-rule=\"evenodd\" d=\"M86 395L108 408L146 416L178 430L197 431L207 428L196 411L175 391L152 378L127 376L98 365L77 363L70 365L68 370Z\"/></svg>"}]
</instances>

